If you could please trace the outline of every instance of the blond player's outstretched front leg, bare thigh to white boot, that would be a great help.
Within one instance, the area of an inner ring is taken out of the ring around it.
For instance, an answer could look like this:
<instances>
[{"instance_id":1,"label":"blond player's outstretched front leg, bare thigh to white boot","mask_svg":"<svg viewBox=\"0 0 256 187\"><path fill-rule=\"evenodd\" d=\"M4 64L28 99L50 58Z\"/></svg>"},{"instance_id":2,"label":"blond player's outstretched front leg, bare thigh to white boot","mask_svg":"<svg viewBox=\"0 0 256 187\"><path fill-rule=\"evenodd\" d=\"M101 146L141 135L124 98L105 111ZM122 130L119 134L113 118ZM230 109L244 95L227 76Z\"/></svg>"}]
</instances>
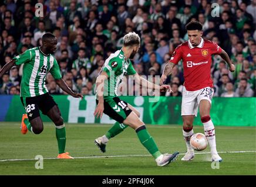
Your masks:
<instances>
[{"instance_id":1,"label":"blond player's outstretched front leg, bare thigh to white boot","mask_svg":"<svg viewBox=\"0 0 256 187\"><path fill-rule=\"evenodd\" d=\"M178 152L174 154L161 154L153 137L151 137L149 132L147 131L145 124L134 112L131 112L126 117L126 119L124 119L123 123L129 125L136 131L140 143L142 143L147 151L149 151L149 153L153 155L154 159L157 162L157 165L164 166L169 164L171 161L176 160Z\"/></svg>"}]
</instances>

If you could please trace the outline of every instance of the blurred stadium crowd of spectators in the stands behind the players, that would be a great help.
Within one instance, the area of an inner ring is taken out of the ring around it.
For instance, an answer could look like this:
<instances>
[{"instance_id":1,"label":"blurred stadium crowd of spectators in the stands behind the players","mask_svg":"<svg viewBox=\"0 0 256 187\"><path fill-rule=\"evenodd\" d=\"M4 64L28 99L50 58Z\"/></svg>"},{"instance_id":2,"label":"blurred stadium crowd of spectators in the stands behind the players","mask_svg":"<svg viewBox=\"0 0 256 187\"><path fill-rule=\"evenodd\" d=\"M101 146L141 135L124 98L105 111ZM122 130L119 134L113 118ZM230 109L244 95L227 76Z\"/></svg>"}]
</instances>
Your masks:
<instances>
[{"instance_id":1,"label":"blurred stadium crowd of spectators in the stands behind the players","mask_svg":"<svg viewBox=\"0 0 256 187\"><path fill-rule=\"evenodd\" d=\"M38 2L43 4L39 18ZM219 5L214 10L213 3ZM190 20L202 23L203 37L227 51L236 67L231 73L220 56L213 57L214 96L255 96L256 0L1 1L0 68L25 50L41 46L42 35L51 32L58 39L54 55L62 78L74 91L94 95L96 77L110 53L121 49L124 34L140 35L142 45L133 65L138 74L154 77L161 75L174 49L188 40L185 26ZM22 65L13 67L0 80L0 94L19 94L21 77ZM173 93L163 95L181 96L183 82L180 62L166 82ZM65 94L50 74L46 85L52 94ZM134 86L134 94L142 94L142 89Z\"/></svg>"}]
</instances>

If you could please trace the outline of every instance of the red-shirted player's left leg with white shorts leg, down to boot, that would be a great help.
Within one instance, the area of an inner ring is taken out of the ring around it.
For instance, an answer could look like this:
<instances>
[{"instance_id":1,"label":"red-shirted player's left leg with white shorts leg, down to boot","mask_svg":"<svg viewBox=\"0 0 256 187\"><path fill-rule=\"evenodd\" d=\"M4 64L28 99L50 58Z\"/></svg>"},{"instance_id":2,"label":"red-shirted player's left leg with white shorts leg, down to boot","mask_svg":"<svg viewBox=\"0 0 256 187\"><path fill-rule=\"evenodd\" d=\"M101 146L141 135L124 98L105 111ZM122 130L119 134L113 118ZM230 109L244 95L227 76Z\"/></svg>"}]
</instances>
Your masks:
<instances>
[{"instance_id":1,"label":"red-shirted player's left leg with white shorts leg, down to boot","mask_svg":"<svg viewBox=\"0 0 256 187\"><path fill-rule=\"evenodd\" d=\"M190 146L190 138L194 134L193 121L194 116L197 116L198 103L196 92L188 92L183 87L181 116L183 119L183 138L186 143L187 153L181 158L182 161L190 161L194 158L194 150Z\"/></svg>"}]
</instances>

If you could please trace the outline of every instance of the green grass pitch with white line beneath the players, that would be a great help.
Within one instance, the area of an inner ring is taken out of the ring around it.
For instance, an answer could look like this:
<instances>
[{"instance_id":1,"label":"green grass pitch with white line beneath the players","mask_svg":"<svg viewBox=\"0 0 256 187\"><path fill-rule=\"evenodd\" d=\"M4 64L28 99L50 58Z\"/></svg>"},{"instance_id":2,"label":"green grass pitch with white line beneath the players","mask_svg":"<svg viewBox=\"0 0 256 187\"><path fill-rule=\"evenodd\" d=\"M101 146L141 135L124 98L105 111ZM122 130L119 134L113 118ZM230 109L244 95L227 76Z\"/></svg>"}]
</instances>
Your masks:
<instances>
[{"instance_id":1,"label":"green grass pitch with white line beneath the players","mask_svg":"<svg viewBox=\"0 0 256 187\"><path fill-rule=\"evenodd\" d=\"M216 127L218 151L254 151L252 153L222 153L224 162L212 169L210 154L197 154L194 161L183 162L178 157L167 167L157 167L153 157L140 144L134 130L127 128L107 143L107 152L100 153L93 141L102 136L110 125L66 124L66 151L74 160L43 160L43 169L36 169L36 155L55 158L58 155L55 127L45 123L42 134L21 134L19 123L0 123L0 175L256 175L255 127ZM162 153L185 153L181 126L147 125ZM194 132L203 133L195 126ZM209 152L206 150L198 153ZM107 157L130 155L129 157ZM132 155L144 155L134 156ZM95 158L95 156L106 156ZM88 158L91 157L91 158ZM93 158L94 157L94 158Z\"/></svg>"}]
</instances>

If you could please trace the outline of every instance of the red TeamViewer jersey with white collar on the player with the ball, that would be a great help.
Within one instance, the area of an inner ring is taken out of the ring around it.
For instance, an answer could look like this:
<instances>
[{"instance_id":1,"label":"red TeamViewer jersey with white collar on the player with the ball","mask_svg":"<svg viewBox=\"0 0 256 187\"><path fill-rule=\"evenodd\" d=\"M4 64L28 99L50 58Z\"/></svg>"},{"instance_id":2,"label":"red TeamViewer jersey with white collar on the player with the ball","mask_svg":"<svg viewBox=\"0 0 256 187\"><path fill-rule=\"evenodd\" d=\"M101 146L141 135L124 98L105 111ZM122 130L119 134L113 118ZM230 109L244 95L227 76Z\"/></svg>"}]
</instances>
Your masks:
<instances>
[{"instance_id":1,"label":"red TeamViewer jersey with white collar on the player with the ball","mask_svg":"<svg viewBox=\"0 0 256 187\"><path fill-rule=\"evenodd\" d=\"M217 43L204 39L196 47L188 40L174 50L170 62L178 64L178 61L183 60L184 86L187 91L197 91L207 86L213 88L211 55L220 54L221 51Z\"/></svg>"}]
</instances>

